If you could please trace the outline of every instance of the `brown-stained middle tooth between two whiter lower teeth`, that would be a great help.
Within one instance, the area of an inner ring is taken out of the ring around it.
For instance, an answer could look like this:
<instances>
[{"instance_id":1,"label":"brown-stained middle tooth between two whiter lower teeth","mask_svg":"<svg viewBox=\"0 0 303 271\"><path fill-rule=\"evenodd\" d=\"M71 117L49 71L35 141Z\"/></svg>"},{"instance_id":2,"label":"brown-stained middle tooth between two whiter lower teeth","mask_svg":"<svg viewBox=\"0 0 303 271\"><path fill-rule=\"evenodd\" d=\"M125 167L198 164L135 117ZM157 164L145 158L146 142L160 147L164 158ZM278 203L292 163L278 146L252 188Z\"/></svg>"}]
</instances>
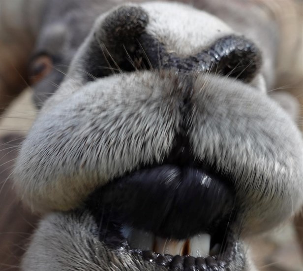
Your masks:
<instances>
[{"instance_id":1,"label":"brown-stained middle tooth between two whiter lower teeth","mask_svg":"<svg viewBox=\"0 0 303 271\"><path fill-rule=\"evenodd\" d=\"M160 254L180 255L182 254L185 240L155 238L154 250Z\"/></svg>"}]
</instances>

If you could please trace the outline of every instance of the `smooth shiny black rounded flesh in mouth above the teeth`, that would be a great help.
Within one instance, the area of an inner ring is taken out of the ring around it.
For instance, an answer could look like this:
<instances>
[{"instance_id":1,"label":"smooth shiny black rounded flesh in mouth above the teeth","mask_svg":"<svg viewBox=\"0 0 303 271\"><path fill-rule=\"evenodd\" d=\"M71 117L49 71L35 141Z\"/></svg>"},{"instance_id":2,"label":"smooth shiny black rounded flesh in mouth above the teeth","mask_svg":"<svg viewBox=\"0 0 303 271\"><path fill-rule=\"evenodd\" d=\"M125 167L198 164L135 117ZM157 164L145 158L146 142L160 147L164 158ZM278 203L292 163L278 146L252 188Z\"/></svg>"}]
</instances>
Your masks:
<instances>
[{"instance_id":1,"label":"smooth shiny black rounded flesh in mouth above the teeth","mask_svg":"<svg viewBox=\"0 0 303 271\"><path fill-rule=\"evenodd\" d=\"M234 193L218 177L196 168L163 165L142 169L95 192L94 212L160 237L210 232L228 218Z\"/></svg>"}]
</instances>

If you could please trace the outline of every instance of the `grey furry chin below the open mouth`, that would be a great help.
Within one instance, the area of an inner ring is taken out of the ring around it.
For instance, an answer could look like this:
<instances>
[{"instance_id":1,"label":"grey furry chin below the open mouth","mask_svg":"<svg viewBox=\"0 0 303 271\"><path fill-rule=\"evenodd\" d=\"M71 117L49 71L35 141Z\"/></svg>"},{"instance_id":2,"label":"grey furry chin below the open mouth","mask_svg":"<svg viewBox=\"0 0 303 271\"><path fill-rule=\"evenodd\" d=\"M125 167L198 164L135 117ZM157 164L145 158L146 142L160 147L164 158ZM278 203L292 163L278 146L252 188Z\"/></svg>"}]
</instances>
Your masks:
<instances>
[{"instance_id":1,"label":"grey furry chin below the open mouth","mask_svg":"<svg viewBox=\"0 0 303 271\"><path fill-rule=\"evenodd\" d=\"M23 264L25 270L30 271L167 270L138 255L130 255L124 250L117 252L106 247L98 238L98 227L94 219L86 212L48 215L40 223L29 250ZM226 271L248 270L243 251L244 246L239 242L234 252L234 257L237 257L226 266Z\"/></svg>"}]
</instances>

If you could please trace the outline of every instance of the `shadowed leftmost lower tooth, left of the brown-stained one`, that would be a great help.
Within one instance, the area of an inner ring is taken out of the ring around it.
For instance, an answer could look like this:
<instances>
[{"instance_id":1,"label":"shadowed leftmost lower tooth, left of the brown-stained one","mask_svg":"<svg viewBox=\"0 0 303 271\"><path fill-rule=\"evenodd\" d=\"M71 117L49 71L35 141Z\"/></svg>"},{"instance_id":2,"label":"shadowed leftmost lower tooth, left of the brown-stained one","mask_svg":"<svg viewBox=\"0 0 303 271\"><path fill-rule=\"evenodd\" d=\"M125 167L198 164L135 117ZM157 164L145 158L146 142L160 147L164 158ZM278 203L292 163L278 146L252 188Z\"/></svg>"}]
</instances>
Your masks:
<instances>
[{"instance_id":1,"label":"shadowed leftmost lower tooth, left of the brown-stained one","mask_svg":"<svg viewBox=\"0 0 303 271\"><path fill-rule=\"evenodd\" d=\"M128 237L131 248L152 250L154 235L150 232L133 229Z\"/></svg>"}]
</instances>

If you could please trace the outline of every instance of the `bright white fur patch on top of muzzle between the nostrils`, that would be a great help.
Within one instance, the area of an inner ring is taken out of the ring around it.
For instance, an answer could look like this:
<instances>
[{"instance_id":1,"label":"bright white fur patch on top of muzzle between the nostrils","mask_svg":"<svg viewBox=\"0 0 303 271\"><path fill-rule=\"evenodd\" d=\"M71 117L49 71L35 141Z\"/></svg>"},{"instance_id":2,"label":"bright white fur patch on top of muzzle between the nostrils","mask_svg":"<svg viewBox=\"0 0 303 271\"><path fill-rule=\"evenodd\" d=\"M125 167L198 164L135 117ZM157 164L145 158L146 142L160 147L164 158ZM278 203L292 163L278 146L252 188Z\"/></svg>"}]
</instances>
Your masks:
<instances>
[{"instance_id":1,"label":"bright white fur patch on top of muzzle between the nostrils","mask_svg":"<svg viewBox=\"0 0 303 271\"><path fill-rule=\"evenodd\" d=\"M211 14L180 3L144 3L150 21L147 32L181 57L195 55L216 39L235 33Z\"/></svg>"}]
</instances>

